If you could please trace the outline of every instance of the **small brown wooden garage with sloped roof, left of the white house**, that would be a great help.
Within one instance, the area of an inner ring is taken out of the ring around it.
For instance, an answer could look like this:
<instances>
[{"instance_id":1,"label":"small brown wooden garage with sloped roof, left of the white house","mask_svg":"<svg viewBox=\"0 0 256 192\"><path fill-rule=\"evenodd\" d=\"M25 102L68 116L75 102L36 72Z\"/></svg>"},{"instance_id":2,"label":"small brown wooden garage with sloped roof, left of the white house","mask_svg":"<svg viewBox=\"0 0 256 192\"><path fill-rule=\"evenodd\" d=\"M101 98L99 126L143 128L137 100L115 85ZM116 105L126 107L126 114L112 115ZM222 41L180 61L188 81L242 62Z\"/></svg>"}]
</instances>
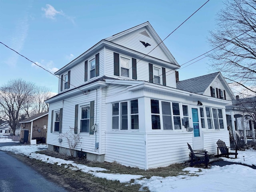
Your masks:
<instances>
[{"instance_id":1,"label":"small brown wooden garage with sloped roof, left of the white house","mask_svg":"<svg viewBox=\"0 0 256 192\"><path fill-rule=\"evenodd\" d=\"M24 119L20 123L20 142L46 143L48 112L36 114Z\"/></svg>"}]
</instances>

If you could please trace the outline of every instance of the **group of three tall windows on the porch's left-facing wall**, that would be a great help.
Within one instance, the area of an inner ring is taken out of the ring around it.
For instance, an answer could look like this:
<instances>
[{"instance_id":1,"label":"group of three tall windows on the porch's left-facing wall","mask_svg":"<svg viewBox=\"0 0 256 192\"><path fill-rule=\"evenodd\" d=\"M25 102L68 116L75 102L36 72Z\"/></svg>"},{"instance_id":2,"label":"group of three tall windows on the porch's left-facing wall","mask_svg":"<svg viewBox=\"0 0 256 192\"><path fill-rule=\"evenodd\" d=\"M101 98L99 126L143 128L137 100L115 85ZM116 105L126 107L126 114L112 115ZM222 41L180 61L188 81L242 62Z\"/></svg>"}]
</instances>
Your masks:
<instances>
[{"instance_id":1,"label":"group of three tall windows on the porch's left-facing wall","mask_svg":"<svg viewBox=\"0 0 256 192\"><path fill-rule=\"evenodd\" d=\"M139 129L138 99L112 103L112 129Z\"/></svg>"}]
</instances>

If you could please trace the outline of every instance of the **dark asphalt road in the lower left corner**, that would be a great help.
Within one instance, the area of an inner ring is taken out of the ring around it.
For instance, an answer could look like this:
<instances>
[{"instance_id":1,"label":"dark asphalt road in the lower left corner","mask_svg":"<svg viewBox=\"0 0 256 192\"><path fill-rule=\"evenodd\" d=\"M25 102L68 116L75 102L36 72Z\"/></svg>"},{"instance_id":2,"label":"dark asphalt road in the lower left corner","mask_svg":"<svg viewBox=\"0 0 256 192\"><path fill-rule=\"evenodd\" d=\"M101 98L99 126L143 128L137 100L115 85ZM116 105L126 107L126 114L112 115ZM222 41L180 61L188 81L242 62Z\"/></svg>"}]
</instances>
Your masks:
<instances>
[{"instance_id":1,"label":"dark asphalt road in the lower left corner","mask_svg":"<svg viewBox=\"0 0 256 192\"><path fill-rule=\"evenodd\" d=\"M8 143L0 143L6 146ZM14 145L14 143L12 143ZM29 166L0 150L0 192L66 192Z\"/></svg>"}]
</instances>

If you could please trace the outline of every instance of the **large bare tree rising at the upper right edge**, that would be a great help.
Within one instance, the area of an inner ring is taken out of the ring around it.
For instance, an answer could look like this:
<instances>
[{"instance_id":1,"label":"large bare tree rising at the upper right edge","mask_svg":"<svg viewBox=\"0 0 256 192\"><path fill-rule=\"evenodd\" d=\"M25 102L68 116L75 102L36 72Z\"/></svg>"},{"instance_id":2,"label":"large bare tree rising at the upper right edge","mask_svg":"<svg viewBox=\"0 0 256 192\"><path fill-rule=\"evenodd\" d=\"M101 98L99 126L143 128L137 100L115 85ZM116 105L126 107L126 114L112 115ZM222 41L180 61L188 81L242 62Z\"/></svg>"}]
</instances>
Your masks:
<instances>
[{"instance_id":1,"label":"large bare tree rising at the upper right edge","mask_svg":"<svg viewBox=\"0 0 256 192\"><path fill-rule=\"evenodd\" d=\"M214 70L227 82L256 93L256 0L225 1L217 18L216 30L208 38Z\"/></svg>"}]
</instances>

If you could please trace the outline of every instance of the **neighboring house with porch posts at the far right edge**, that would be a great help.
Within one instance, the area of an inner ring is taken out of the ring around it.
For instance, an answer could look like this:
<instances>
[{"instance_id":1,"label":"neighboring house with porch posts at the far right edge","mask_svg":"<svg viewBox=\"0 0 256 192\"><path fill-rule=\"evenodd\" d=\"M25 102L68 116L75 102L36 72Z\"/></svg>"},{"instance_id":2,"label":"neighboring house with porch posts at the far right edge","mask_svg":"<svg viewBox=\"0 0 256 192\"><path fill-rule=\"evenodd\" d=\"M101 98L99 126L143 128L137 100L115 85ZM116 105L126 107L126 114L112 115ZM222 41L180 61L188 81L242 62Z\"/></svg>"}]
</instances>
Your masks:
<instances>
[{"instance_id":1,"label":"neighboring house with porch posts at the far right edge","mask_svg":"<svg viewBox=\"0 0 256 192\"><path fill-rule=\"evenodd\" d=\"M235 141L243 138L247 144L247 138L253 138L255 142L256 97L240 99L236 96L232 105L226 106L226 116L230 134Z\"/></svg>"}]
</instances>

